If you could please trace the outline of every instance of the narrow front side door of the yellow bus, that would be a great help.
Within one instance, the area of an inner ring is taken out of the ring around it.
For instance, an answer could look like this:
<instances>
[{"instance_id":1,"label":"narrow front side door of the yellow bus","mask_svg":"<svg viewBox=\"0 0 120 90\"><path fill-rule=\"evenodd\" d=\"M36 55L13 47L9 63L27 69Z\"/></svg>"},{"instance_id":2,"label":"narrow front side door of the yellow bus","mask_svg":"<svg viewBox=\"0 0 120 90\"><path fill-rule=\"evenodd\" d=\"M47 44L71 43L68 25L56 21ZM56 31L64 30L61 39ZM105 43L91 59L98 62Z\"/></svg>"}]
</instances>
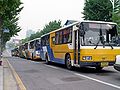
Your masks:
<instances>
[{"instance_id":1,"label":"narrow front side door of the yellow bus","mask_svg":"<svg viewBox=\"0 0 120 90\"><path fill-rule=\"evenodd\" d=\"M74 31L74 64L80 63L80 37L79 31Z\"/></svg>"}]
</instances>

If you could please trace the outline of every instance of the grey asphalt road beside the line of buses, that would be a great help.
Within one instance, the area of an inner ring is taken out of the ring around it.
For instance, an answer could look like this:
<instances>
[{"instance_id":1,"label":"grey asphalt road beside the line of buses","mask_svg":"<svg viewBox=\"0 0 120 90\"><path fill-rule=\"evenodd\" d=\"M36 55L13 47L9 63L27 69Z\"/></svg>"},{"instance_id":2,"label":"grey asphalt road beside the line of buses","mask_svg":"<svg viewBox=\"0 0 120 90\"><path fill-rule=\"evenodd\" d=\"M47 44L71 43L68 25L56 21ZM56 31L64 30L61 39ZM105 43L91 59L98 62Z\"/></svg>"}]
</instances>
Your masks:
<instances>
[{"instance_id":1,"label":"grey asphalt road beside the line of buses","mask_svg":"<svg viewBox=\"0 0 120 90\"><path fill-rule=\"evenodd\" d=\"M67 70L63 65L46 65L8 57L27 90L119 90L120 72L113 67L97 72L94 68Z\"/></svg>"}]
</instances>

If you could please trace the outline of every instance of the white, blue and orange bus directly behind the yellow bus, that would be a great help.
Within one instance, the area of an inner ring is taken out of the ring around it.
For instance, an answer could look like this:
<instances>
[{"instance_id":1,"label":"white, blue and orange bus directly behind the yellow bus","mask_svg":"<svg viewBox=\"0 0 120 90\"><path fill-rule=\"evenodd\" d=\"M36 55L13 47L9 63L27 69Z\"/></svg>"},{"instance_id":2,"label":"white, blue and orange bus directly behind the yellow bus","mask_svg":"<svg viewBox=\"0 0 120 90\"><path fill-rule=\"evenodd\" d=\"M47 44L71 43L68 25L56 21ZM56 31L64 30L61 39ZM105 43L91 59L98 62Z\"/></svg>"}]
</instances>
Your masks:
<instances>
[{"instance_id":1,"label":"white, blue and orange bus directly behind the yellow bus","mask_svg":"<svg viewBox=\"0 0 120 90\"><path fill-rule=\"evenodd\" d=\"M40 38L28 42L28 57L30 59L40 59L40 42Z\"/></svg>"}]
</instances>

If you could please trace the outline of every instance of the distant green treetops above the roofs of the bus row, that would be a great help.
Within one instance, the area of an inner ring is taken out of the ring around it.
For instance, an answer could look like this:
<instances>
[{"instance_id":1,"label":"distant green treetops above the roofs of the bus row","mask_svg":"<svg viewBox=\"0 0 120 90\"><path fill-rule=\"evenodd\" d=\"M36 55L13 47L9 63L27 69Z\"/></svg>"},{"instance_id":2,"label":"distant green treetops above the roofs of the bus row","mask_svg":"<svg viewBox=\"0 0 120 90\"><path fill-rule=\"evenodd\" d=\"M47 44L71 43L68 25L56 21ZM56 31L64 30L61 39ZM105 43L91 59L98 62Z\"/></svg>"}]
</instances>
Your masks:
<instances>
[{"instance_id":1,"label":"distant green treetops above the roofs of the bus row","mask_svg":"<svg viewBox=\"0 0 120 90\"><path fill-rule=\"evenodd\" d=\"M32 34L30 37L23 39L22 43L33 40L35 38L40 38L43 34L49 33L58 28L61 28L60 20L59 21L56 21L56 20L50 21L47 25L44 26L43 30L40 30L39 32L36 32L35 34Z\"/></svg>"}]
</instances>

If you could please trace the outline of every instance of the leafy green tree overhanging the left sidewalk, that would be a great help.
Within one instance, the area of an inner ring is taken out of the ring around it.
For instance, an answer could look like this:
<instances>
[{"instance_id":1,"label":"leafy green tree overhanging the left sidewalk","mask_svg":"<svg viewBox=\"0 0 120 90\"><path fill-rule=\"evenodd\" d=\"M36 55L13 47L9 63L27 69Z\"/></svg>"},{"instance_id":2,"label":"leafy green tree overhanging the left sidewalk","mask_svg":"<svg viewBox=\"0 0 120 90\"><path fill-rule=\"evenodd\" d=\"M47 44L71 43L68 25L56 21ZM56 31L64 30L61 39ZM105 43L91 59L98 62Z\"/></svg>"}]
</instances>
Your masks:
<instances>
[{"instance_id":1,"label":"leafy green tree overhanging the left sidewalk","mask_svg":"<svg viewBox=\"0 0 120 90\"><path fill-rule=\"evenodd\" d=\"M3 45L21 30L17 22L23 9L21 4L20 0L0 0L0 37ZM9 34L4 33L5 28L9 29Z\"/></svg>"}]
</instances>

